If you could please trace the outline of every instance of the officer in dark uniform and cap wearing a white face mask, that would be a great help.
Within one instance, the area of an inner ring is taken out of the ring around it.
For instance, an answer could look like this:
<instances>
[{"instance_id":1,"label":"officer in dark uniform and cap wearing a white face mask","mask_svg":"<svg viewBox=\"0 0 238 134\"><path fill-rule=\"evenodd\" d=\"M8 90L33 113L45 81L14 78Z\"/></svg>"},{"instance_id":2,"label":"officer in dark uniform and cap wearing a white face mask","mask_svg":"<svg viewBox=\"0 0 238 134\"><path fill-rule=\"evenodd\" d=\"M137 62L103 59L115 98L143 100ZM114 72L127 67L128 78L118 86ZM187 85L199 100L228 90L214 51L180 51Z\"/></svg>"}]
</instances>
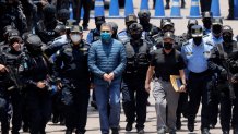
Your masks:
<instances>
[{"instance_id":1,"label":"officer in dark uniform and cap wearing a white face mask","mask_svg":"<svg viewBox=\"0 0 238 134\"><path fill-rule=\"evenodd\" d=\"M55 74L62 81L62 102L64 103L66 134L84 134L90 99L90 72L87 51L90 45L83 38L82 27L73 25L71 42L57 52ZM62 66L63 64L63 66Z\"/></svg>"}]
</instances>

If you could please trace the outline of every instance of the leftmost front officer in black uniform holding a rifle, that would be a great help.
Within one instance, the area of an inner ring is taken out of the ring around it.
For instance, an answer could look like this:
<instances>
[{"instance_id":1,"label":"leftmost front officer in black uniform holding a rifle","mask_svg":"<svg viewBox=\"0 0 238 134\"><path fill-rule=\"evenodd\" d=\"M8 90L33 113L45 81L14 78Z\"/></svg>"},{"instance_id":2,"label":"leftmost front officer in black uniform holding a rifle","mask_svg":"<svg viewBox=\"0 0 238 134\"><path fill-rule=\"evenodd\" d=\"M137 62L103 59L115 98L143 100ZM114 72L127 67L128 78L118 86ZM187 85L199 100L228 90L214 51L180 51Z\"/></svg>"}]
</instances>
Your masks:
<instances>
[{"instance_id":1,"label":"leftmost front officer in black uniform holding a rifle","mask_svg":"<svg viewBox=\"0 0 238 134\"><path fill-rule=\"evenodd\" d=\"M23 50L24 48L20 33L16 29L12 29L9 33L9 42L1 47L1 58L5 62L4 65L11 68L10 75L12 75L14 82L13 86L9 88L9 95L13 107L12 134L19 134L22 124L23 85L20 82L19 66L21 62L19 60L21 60L20 58L23 54Z\"/></svg>"}]
</instances>

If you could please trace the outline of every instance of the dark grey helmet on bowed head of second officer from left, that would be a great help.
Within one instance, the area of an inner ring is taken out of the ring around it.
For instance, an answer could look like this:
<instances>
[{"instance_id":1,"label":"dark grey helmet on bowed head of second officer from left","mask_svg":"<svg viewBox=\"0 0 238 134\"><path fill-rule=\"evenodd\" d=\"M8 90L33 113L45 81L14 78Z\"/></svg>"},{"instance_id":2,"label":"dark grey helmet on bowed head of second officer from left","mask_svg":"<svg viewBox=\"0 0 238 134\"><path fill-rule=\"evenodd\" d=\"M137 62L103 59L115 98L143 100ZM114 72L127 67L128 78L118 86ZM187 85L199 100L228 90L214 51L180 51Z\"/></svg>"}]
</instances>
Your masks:
<instances>
[{"instance_id":1,"label":"dark grey helmet on bowed head of second officer from left","mask_svg":"<svg viewBox=\"0 0 238 134\"><path fill-rule=\"evenodd\" d=\"M34 34L31 34L27 38L26 38L26 41L25 41L25 45L26 46L31 46L31 47L36 47L36 48L39 48L43 46L43 41L41 39L39 38L38 35L34 35Z\"/></svg>"}]
</instances>

